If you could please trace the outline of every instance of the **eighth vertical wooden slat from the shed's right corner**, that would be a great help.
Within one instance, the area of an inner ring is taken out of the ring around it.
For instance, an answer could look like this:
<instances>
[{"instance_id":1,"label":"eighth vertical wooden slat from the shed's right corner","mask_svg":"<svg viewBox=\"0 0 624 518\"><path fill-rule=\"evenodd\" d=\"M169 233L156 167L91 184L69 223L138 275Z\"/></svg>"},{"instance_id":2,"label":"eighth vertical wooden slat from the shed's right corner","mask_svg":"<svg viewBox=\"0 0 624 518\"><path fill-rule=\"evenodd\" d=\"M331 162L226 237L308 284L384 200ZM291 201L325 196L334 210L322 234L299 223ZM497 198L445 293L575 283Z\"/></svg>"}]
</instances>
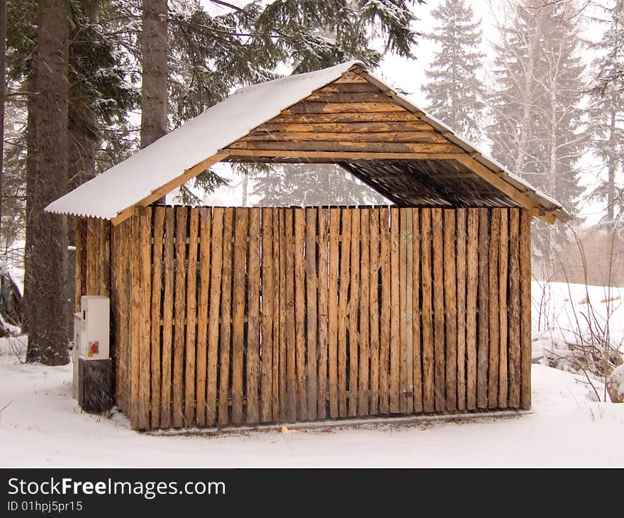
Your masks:
<instances>
[{"instance_id":1,"label":"eighth vertical wooden slat from the shed's right corner","mask_svg":"<svg viewBox=\"0 0 624 518\"><path fill-rule=\"evenodd\" d=\"M444 304L446 345L446 404L457 410L457 260L455 209L444 211Z\"/></svg>"}]
</instances>

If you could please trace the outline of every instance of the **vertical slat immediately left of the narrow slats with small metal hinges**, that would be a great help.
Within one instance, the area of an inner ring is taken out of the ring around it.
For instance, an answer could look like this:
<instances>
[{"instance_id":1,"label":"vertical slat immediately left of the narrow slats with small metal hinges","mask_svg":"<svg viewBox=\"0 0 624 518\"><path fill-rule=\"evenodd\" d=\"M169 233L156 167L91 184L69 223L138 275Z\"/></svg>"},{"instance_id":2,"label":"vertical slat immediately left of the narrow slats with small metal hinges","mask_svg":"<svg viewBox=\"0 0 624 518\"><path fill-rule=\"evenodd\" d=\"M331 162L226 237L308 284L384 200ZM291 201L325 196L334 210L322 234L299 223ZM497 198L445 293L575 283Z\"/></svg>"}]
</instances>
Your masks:
<instances>
[{"instance_id":1,"label":"vertical slat immediately left of the narrow slats with small metal hinges","mask_svg":"<svg viewBox=\"0 0 624 518\"><path fill-rule=\"evenodd\" d=\"M401 239L399 209L390 209L390 412L401 412L399 380L401 360L401 303L399 276L399 241Z\"/></svg>"}]
</instances>

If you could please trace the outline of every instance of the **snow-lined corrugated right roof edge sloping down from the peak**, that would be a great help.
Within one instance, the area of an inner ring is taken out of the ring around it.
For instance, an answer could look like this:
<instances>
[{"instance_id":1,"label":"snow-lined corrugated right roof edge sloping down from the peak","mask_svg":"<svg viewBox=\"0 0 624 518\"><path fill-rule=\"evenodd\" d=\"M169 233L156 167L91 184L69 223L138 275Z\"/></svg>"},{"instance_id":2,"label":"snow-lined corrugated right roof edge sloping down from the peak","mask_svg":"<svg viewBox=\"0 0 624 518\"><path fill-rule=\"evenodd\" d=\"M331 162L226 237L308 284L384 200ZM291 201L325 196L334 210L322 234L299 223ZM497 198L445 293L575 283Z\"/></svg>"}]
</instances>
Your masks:
<instances>
[{"instance_id":1,"label":"snow-lined corrugated right roof edge sloping down from the peak","mask_svg":"<svg viewBox=\"0 0 624 518\"><path fill-rule=\"evenodd\" d=\"M367 72L367 70L364 69L362 75L364 75L364 77L366 77L366 79L369 80L369 82L374 84L376 87L380 89L388 88L387 84L381 81L381 79L377 79L377 77L374 77L374 75ZM450 142L457 145L459 148L462 148L466 153L469 153L472 158L474 158L474 160L477 160L477 162L479 162L481 165L484 165L491 172L494 172L495 175L498 175L512 187L518 189L519 192L525 194L525 196L529 197L530 199L533 199L533 201L535 201L543 209L547 211L552 211L552 213L555 214L559 221L565 223L572 219L572 215L569 214L569 212L566 211L566 209L564 209L564 207L559 204L559 202L557 202L555 199L551 198L547 194L540 192L540 190L533 187L533 185L531 185L529 182L523 180L517 175L514 175L513 172L508 171L503 165L496 162L496 160L494 160L493 158L489 158L487 155L485 155L481 150L479 150L479 148L477 148L477 146L469 143L464 138L457 136L455 131L453 131L452 128L449 128L445 123L439 121L434 116L426 113L423 109L420 109L418 106L416 106L400 94L394 94L392 96L392 99L394 99L396 104L403 106L403 108L405 108L406 110L411 111L412 113L417 112L420 116L420 120L425 121L426 123L433 126L436 131L440 133L447 133L447 135L445 135L445 138L447 138L447 140L450 140Z\"/></svg>"}]
</instances>

